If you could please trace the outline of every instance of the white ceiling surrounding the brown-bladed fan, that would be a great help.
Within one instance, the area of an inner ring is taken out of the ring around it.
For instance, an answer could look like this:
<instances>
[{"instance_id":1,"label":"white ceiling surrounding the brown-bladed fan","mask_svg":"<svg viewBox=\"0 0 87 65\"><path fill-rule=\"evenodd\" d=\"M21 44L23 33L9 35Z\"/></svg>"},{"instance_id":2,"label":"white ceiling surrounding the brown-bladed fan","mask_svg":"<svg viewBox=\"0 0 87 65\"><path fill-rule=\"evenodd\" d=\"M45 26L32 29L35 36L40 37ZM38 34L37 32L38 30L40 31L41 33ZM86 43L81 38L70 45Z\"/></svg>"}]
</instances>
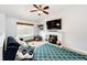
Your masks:
<instances>
[{"instance_id":1,"label":"white ceiling surrounding the brown-bladed fan","mask_svg":"<svg viewBox=\"0 0 87 65\"><path fill-rule=\"evenodd\" d=\"M0 13L6 13L8 17L26 20L42 21L48 15L56 14L62 10L69 8L68 4L47 4L50 6L50 14L37 15L37 12L30 12L35 9L32 4L0 4Z\"/></svg>"}]
</instances>

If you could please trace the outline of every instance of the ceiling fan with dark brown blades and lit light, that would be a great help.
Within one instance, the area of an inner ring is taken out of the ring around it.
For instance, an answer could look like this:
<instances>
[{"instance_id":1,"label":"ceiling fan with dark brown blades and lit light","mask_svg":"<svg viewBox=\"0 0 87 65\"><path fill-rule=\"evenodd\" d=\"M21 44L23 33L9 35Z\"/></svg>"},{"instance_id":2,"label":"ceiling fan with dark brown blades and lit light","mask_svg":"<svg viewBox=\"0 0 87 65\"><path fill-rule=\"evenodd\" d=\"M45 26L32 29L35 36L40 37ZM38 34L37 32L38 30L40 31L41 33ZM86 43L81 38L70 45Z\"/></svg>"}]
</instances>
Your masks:
<instances>
[{"instance_id":1,"label":"ceiling fan with dark brown blades and lit light","mask_svg":"<svg viewBox=\"0 0 87 65\"><path fill-rule=\"evenodd\" d=\"M36 8L36 10L31 10L30 12L39 12L39 15L41 15L42 13L48 14L48 12L46 11L47 9L50 9L48 6L43 6L43 4L33 4L34 8Z\"/></svg>"}]
</instances>

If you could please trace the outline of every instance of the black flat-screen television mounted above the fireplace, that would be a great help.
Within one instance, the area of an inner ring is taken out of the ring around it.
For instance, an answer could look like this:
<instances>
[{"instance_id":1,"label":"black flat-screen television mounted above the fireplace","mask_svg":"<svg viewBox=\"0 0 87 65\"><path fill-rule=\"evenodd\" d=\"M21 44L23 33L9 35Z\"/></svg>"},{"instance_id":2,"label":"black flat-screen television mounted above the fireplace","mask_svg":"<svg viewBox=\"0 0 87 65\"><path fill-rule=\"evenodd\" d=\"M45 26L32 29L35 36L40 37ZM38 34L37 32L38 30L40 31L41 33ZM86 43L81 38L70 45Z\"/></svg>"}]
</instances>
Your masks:
<instances>
[{"instance_id":1,"label":"black flat-screen television mounted above the fireplace","mask_svg":"<svg viewBox=\"0 0 87 65\"><path fill-rule=\"evenodd\" d=\"M62 19L47 21L46 25L48 30L62 30Z\"/></svg>"}]
</instances>

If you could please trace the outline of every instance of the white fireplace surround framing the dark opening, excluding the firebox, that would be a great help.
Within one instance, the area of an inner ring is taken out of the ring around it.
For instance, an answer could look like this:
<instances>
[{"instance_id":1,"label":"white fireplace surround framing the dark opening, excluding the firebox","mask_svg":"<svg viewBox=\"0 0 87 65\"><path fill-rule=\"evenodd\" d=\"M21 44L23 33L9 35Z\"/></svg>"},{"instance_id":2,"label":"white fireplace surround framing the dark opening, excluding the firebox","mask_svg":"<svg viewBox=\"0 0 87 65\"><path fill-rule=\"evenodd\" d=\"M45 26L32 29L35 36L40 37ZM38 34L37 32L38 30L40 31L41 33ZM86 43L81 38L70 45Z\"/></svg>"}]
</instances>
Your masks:
<instances>
[{"instance_id":1,"label":"white fireplace surround framing the dark opening, excluding the firebox","mask_svg":"<svg viewBox=\"0 0 87 65\"><path fill-rule=\"evenodd\" d=\"M61 42L62 45L65 45L65 43L64 43L64 32L63 31L61 31L61 30L47 30L45 32L44 41L48 42L50 35L57 35L57 43Z\"/></svg>"}]
</instances>

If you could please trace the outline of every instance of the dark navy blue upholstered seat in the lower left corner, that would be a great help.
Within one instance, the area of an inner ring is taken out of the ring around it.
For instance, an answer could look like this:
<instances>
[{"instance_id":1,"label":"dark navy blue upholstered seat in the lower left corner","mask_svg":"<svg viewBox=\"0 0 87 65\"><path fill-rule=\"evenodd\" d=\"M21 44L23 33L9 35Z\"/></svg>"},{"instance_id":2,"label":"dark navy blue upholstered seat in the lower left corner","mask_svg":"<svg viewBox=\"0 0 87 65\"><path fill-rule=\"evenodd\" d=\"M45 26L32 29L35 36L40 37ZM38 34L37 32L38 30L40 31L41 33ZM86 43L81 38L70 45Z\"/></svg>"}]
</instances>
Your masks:
<instances>
[{"instance_id":1,"label":"dark navy blue upholstered seat in the lower left corner","mask_svg":"<svg viewBox=\"0 0 87 65\"><path fill-rule=\"evenodd\" d=\"M6 42L3 44L3 61L14 61L19 46L20 44L14 40L14 37L8 36L7 44Z\"/></svg>"}]
</instances>

